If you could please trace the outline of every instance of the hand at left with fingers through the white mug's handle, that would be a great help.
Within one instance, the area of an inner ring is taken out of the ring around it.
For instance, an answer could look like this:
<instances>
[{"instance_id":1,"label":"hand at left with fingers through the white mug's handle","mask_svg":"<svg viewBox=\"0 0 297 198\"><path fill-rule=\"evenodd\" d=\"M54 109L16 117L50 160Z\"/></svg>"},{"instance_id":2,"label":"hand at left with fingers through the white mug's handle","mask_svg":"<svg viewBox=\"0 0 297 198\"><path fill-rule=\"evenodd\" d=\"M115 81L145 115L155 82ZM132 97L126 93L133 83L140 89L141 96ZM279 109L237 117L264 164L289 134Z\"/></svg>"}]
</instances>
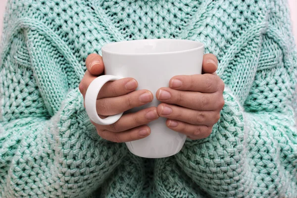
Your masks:
<instances>
[{"instance_id":1,"label":"hand at left with fingers through the white mug's handle","mask_svg":"<svg viewBox=\"0 0 297 198\"><path fill-rule=\"evenodd\" d=\"M79 84L79 90L84 99L91 82L103 73L102 57L92 53L86 59L87 71ZM136 90L138 83L133 78L107 82L100 90L96 108L101 118L115 115L131 108L147 104L152 101L153 94L148 90ZM147 137L149 122L158 119L157 108L152 106L135 113L124 114L111 125L99 125L92 122L103 139L112 142L130 142Z\"/></svg>"}]
</instances>

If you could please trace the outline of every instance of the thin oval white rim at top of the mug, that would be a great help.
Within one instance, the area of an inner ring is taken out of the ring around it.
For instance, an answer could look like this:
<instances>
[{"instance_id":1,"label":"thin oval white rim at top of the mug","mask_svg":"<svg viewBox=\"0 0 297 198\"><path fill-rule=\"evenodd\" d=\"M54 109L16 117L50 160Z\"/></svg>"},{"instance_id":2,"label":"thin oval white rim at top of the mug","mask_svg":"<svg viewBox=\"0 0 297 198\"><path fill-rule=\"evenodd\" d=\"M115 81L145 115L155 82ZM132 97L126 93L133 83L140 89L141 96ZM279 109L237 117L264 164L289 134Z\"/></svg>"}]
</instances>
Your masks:
<instances>
[{"instance_id":1,"label":"thin oval white rim at top of the mug","mask_svg":"<svg viewBox=\"0 0 297 198\"><path fill-rule=\"evenodd\" d=\"M113 52L110 51L106 48L108 47L112 47L112 46L116 46L116 45L120 45L123 43L136 43L136 42L145 42L145 41L170 41L170 40L174 40L174 41L180 41L180 42L187 42L187 43L196 43L198 44L197 48L192 48L192 49L185 49L185 50L178 50L178 51L169 51L169 52L153 52L153 53L130 53L130 52ZM178 54L178 53L186 53L186 52L191 52L191 51L195 51L198 49L204 49L204 44L198 41L192 41L192 40L185 40L185 39L141 39L141 40L129 40L129 41L120 41L120 42L113 42L113 43L108 43L105 44L102 48L101 51L102 53L109 53L109 54L113 54L113 55L125 55L125 56L138 56L138 55L165 55L165 54Z\"/></svg>"}]
</instances>

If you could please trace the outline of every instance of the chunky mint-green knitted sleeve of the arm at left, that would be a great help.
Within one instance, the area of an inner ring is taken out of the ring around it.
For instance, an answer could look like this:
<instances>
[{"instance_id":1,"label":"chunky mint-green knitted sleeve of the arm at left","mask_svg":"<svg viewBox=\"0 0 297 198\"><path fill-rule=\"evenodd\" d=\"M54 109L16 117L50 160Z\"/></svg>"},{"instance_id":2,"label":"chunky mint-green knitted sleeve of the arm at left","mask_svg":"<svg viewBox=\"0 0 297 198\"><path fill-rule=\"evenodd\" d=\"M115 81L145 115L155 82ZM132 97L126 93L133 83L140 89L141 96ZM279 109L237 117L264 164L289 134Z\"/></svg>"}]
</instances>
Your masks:
<instances>
[{"instance_id":1,"label":"chunky mint-green knitted sleeve of the arm at left","mask_svg":"<svg viewBox=\"0 0 297 198\"><path fill-rule=\"evenodd\" d=\"M127 149L97 135L78 72L66 50L61 54L50 41L54 35L24 24L4 31L0 197L84 197L102 185Z\"/></svg>"}]
</instances>

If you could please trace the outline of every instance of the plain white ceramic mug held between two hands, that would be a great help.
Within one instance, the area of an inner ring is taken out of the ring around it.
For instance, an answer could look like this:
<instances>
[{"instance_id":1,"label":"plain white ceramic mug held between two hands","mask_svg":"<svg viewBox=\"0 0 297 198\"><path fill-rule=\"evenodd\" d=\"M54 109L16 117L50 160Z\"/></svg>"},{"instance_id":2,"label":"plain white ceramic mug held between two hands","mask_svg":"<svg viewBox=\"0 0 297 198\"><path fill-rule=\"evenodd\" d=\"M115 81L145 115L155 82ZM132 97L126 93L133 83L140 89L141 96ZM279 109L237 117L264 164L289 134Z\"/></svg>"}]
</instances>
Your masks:
<instances>
[{"instance_id":1,"label":"plain white ceramic mug held between two hands","mask_svg":"<svg viewBox=\"0 0 297 198\"><path fill-rule=\"evenodd\" d=\"M105 74L96 78L89 86L85 106L90 119L100 125L115 123L123 113L101 119L96 111L96 100L101 87L108 81L131 77L137 80L138 90L152 92L152 102L133 108L135 112L150 106L157 106L156 91L168 87L169 80L177 75L201 74L204 46L189 40L134 40L107 44L102 47ZM199 86L199 85L197 85ZM148 124L148 137L127 142L129 150L147 158L168 157L178 153L186 135L167 128L166 118L158 118Z\"/></svg>"}]
</instances>

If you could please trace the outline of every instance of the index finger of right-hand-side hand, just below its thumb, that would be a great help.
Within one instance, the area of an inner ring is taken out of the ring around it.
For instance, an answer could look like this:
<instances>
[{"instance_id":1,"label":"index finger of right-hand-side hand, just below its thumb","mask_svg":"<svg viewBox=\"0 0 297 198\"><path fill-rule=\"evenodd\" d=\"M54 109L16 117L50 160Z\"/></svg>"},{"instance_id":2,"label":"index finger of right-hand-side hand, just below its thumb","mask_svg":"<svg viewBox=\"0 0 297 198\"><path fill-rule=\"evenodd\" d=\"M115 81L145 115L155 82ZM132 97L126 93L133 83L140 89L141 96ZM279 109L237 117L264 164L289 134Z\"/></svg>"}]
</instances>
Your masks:
<instances>
[{"instance_id":1,"label":"index finger of right-hand-side hand, just below its thumb","mask_svg":"<svg viewBox=\"0 0 297 198\"><path fill-rule=\"evenodd\" d=\"M213 74L180 75L170 79L169 87L175 90L214 93L224 91L224 82Z\"/></svg>"}]
</instances>

